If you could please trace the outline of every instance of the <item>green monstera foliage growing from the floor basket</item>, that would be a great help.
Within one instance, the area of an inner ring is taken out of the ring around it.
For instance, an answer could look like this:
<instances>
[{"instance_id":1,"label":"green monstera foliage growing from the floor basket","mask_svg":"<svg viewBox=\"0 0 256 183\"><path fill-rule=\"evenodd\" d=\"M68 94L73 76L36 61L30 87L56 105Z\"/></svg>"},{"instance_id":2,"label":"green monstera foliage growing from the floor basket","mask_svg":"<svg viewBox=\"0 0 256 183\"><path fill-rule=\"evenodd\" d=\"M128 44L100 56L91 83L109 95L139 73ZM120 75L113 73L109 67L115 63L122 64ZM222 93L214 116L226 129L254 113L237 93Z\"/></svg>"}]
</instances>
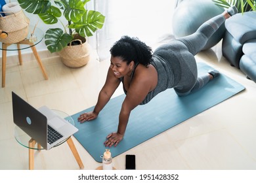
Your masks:
<instances>
[{"instance_id":1,"label":"green monstera foliage growing from the floor basket","mask_svg":"<svg viewBox=\"0 0 256 183\"><path fill-rule=\"evenodd\" d=\"M60 22L63 25L63 29L50 28L45 33L45 45L53 53L66 47L75 34L90 37L97 29L102 28L105 16L95 10L85 9L89 1L91 0L18 0L18 3L26 12L37 14L45 24ZM67 20L66 24L62 23L62 17Z\"/></svg>"}]
</instances>

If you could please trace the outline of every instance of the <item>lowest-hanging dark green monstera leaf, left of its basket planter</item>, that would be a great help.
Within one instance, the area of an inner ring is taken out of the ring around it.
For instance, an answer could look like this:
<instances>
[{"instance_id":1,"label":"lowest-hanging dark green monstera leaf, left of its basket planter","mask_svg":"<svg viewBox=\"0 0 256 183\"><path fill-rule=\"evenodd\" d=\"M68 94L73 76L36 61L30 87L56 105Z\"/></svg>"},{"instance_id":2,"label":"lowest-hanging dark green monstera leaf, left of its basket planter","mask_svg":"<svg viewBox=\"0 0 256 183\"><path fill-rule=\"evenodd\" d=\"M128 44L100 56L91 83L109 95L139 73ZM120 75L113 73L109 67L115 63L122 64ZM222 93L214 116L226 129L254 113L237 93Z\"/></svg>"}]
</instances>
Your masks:
<instances>
[{"instance_id":1,"label":"lowest-hanging dark green monstera leaf, left of its basket planter","mask_svg":"<svg viewBox=\"0 0 256 183\"><path fill-rule=\"evenodd\" d=\"M73 37L68 33L63 33L62 29L48 29L45 33L45 45L53 52L59 52L72 41Z\"/></svg>"}]
</instances>

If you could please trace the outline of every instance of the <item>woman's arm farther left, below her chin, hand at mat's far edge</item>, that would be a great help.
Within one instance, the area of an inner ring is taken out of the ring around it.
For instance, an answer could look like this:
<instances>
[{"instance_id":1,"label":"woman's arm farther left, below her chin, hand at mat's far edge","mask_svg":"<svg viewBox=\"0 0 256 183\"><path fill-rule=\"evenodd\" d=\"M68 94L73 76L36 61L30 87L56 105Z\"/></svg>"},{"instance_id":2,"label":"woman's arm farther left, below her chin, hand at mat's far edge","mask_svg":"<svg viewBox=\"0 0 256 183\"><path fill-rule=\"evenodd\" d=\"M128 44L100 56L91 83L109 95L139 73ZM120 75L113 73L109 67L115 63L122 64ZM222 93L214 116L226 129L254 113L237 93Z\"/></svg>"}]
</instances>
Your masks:
<instances>
[{"instance_id":1,"label":"woman's arm farther left, below her chin, hand at mat's far edge","mask_svg":"<svg viewBox=\"0 0 256 183\"><path fill-rule=\"evenodd\" d=\"M113 93L116 91L117 87L120 84L120 80L114 76L113 71L109 68L108 69L108 75L106 77L106 82L102 89L100 90L100 93L98 94L98 101L95 105L95 108L91 112L85 112L81 114L78 118L78 121L80 123L94 120L97 118L98 114L104 108L104 106L108 103L110 100L110 97L113 95Z\"/></svg>"}]
</instances>

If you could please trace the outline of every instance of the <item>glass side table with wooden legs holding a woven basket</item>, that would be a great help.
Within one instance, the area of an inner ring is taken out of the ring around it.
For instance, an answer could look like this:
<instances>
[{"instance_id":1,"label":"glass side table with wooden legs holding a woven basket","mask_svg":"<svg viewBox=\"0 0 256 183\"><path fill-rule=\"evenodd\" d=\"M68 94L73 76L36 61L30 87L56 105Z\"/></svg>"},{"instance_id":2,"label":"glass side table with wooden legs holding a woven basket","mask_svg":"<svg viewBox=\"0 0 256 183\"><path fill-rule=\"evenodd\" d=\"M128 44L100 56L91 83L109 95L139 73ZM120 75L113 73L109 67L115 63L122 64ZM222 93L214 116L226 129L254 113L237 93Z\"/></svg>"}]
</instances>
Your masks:
<instances>
[{"instance_id":1,"label":"glass side table with wooden legs holding a woven basket","mask_svg":"<svg viewBox=\"0 0 256 183\"><path fill-rule=\"evenodd\" d=\"M33 30L33 27L30 27L30 30ZM19 63L20 65L22 65L21 50L31 48L33 55L35 56L35 59L39 64L39 67L43 73L45 80L48 80L48 76L45 71L45 68L43 67L43 63L41 62L41 59L35 48L35 45L43 40L44 33L43 31L41 31L41 29L35 27L35 31L33 35L34 35L34 37L32 37L33 39L31 39L31 34L29 33L28 37L23 41L16 42L13 44L7 44L2 42L2 44L0 44L0 50L2 50L2 88L5 87L5 70L6 70L6 62L7 62L7 51L18 51Z\"/></svg>"}]
</instances>

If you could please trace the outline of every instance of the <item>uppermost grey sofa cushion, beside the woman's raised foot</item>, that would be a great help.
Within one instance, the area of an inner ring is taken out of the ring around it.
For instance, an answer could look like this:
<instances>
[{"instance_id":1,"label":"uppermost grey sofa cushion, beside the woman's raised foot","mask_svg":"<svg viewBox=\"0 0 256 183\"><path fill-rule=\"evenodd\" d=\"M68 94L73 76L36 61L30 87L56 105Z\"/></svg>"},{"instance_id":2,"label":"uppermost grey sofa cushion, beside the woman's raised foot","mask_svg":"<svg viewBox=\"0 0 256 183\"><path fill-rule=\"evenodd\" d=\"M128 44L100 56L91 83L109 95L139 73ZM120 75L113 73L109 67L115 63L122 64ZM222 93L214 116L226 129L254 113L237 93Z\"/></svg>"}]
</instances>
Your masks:
<instances>
[{"instance_id":1,"label":"uppermost grey sofa cushion, beside the woman's raised foot","mask_svg":"<svg viewBox=\"0 0 256 183\"><path fill-rule=\"evenodd\" d=\"M236 39L244 44L249 39L256 39L256 12L249 11L235 14L225 21L226 30Z\"/></svg>"}]
</instances>

